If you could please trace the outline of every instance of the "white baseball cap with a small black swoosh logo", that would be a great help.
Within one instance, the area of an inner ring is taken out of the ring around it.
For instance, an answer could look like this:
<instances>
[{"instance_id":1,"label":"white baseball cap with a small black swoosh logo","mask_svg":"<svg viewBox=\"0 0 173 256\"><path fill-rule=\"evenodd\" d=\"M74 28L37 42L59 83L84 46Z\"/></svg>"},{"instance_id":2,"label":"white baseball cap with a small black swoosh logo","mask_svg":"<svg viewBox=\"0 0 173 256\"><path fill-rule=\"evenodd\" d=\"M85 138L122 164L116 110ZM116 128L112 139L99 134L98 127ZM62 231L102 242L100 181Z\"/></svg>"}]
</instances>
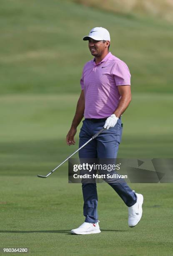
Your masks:
<instances>
[{"instance_id":1,"label":"white baseball cap with a small black swoosh logo","mask_svg":"<svg viewBox=\"0 0 173 256\"><path fill-rule=\"evenodd\" d=\"M84 36L83 40L89 40L89 38L92 38L97 41L105 40L110 41L110 34L109 31L102 27L96 27L91 29L88 36Z\"/></svg>"}]
</instances>

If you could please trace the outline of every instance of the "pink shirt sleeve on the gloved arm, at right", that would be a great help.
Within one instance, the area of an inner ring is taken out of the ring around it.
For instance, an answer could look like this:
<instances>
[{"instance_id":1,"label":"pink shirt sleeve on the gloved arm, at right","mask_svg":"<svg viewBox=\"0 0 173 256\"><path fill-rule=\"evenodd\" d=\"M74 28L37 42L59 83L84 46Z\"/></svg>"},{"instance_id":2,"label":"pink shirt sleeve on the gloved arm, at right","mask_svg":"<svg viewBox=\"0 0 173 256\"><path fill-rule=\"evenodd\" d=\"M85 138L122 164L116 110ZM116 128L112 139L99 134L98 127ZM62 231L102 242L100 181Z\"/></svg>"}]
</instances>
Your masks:
<instances>
[{"instance_id":1,"label":"pink shirt sleeve on the gloved arm, at right","mask_svg":"<svg viewBox=\"0 0 173 256\"><path fill-rule=\"evenodd\" d=\"M116 85L130 85L130 71L123 61L117 61L113 68Z\"/></svg>"}]
</instances>

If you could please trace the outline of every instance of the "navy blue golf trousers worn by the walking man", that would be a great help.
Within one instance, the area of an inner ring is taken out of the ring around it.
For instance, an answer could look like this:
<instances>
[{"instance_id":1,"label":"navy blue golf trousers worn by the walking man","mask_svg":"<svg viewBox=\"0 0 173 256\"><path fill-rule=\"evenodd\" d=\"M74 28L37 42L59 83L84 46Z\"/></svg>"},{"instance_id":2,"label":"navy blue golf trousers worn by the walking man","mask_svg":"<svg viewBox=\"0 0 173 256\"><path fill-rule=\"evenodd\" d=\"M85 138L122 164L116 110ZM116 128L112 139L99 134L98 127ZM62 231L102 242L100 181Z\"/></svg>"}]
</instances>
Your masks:
<instances>
[{"instance_id":1,"label":"navy blue golf trousers worn by the walking man","mask_svg":"<svg viewBox=\"0 0 173 256\"><path fill-rule=\"evenodd\" d=\"M94 123L91 120L83 120L83 125L79 134L79 147L103 128L104 124L105 121ZM82 148L79 151L79 158L115 159L118 153L122 130L121 120L118 119L118 122L114 127L103 131L98 137ZM118 193L125 202L125 205L130 207L135 204L137 197L124 179L118 179L115 182L108 184ZM98 195L96 183L82 184L82 190L84 200L83 215L85 216L85 222L96 223L98 221Z\"/></svg>"}]
</instances>

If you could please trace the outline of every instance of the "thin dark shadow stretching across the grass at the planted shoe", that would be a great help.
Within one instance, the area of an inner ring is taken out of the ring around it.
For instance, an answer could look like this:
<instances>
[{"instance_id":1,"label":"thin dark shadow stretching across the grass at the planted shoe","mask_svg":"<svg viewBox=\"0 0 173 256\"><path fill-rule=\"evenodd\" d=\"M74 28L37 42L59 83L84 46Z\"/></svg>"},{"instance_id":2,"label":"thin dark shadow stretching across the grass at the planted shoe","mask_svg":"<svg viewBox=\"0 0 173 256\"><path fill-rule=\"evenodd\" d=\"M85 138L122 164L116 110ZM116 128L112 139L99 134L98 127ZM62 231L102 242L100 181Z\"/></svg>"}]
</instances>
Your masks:
<instances>
[{"instance_id":1,"label":"thin dark shadow stretching across the grass at the planted shoe","mask_svg":"<svg viewBox=\"0 0 173 256\"><path fill-rule=\"evenodd\" d=\"M101 231L126 232L127 230L101 229ZM0 230L0 233L70 233L70 230Z\"/></svg>"}]
</instances>

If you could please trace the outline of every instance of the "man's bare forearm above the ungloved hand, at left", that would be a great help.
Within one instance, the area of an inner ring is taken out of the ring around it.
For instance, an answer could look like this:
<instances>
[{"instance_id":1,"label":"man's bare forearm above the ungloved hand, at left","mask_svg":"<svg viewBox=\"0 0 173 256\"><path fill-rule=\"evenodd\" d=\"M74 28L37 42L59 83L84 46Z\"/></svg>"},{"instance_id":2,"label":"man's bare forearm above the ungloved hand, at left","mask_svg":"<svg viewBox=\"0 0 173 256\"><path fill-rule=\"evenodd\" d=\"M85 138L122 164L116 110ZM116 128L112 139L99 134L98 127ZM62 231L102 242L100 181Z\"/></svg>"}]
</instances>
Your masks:
<instances>
[{"instance_id":1,"label":"man's bare forearm above the ungloved hand, at left","mask_svg":"<svg viewBox=\"0 0 173 256\"><path fill-rule=\"evenodd\" d=\"M78 103L77 103L76 112L75 112L75 116L73 118L71 127L73 127L73 128L78 127L81 120L83 119L84 110L85 110L85 98L84 98L84 93L82 91L80 94Z\"/></svg>"}]
</instances>

